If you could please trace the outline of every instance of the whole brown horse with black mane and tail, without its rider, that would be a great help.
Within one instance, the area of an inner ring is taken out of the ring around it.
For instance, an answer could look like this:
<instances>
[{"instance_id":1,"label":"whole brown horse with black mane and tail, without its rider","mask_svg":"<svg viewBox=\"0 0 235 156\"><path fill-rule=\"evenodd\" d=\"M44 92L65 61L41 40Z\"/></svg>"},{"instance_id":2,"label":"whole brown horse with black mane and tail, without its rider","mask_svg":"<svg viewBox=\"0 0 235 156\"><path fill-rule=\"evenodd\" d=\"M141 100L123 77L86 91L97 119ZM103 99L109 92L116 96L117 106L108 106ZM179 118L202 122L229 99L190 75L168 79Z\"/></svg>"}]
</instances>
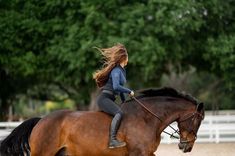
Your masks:
<instances>
[{"instance_id":1,"label":"whole brown horse with black mane and tail, without its rider","mask_svg":"<svg viewBox=\"0 0 235 156\"><path fill-rule=\"evenodd\" d=\"M203 103L171 88L141 94L122 105L118 139L126 147L108 148L111 116L63 110L25 121L2 142L0 152L7 156L154 156L162 131L174 121L179 128L179 148L190 152L204 118Z\"/></svg>"}]
</instances>

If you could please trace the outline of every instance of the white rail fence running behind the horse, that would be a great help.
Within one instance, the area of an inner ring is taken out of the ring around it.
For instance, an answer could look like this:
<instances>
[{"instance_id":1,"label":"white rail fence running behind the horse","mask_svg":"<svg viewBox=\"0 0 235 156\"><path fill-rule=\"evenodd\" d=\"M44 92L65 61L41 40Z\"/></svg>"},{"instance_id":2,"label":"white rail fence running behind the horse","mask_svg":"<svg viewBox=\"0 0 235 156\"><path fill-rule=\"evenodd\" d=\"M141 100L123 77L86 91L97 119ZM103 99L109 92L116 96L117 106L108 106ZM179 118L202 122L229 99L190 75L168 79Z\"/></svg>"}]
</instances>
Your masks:
<instances>
[{"instance_id":1,"label":"white rail fence running behind the horse","mask_svg":"<svg viewBox=\"0 0 235 156\"><path fill-rule=\"evenodd\" d=\"M21 122L0 122L0 140L7 136L13 128ZM172 126L177 128L176 123ZM172 133L169 127L165 129ZM162 133L161 143L178 143L177 139L171 139L167 134ZM206 115L198 131L196 142L235 142L235 115Z\"/></svg>"}]
</instances>

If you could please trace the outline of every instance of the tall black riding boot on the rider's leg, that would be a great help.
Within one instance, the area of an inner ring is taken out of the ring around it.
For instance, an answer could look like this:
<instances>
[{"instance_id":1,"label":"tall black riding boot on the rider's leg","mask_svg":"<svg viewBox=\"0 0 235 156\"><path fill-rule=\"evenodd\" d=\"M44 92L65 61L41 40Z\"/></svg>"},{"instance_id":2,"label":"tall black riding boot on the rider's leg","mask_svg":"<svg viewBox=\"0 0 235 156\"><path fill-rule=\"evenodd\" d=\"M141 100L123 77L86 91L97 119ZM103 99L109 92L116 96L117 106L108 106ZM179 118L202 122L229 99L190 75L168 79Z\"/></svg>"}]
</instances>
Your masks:
<instances>
[{"instance_id":1,"label":"tall black riding boot on the rider's leg","mask_svg":"<svg viewBox=\"0 0 235 156\"><path fill-rule=\"evenodd\" d=\"M120 122L122 120L122 115L117 113L111 123L110 127L110 138L109 138L109 148L117 148L117 147L124 147L126 143L123 141L118 141L116 138L117 130L120 126Z\"/></svg>"}]
</instances>

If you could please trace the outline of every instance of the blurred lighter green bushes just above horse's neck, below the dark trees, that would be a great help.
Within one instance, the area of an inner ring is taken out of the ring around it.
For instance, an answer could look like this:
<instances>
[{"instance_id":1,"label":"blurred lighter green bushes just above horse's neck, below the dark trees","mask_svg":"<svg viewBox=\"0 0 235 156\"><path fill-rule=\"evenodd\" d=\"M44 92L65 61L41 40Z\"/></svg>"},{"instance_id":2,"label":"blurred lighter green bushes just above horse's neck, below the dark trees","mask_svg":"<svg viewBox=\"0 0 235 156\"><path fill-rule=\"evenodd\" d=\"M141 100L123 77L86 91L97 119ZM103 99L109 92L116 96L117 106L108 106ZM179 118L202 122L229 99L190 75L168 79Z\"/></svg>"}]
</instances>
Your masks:
<instances>
[{"instance_id":1,"label":"blurred lighter green bushes just above horse's neck, below the dark trees","mask_svg":"<svg viewBox=\"0 0 235 156\"><path fill-rule=\"evenodd\" d=\"M206 110L235 109L234 94L226 87L225 81L214 74L200 72L193 67L178 74L171 69L170 75L163 74L161 84L197 97Z\"/></svg>"}]
</instances>

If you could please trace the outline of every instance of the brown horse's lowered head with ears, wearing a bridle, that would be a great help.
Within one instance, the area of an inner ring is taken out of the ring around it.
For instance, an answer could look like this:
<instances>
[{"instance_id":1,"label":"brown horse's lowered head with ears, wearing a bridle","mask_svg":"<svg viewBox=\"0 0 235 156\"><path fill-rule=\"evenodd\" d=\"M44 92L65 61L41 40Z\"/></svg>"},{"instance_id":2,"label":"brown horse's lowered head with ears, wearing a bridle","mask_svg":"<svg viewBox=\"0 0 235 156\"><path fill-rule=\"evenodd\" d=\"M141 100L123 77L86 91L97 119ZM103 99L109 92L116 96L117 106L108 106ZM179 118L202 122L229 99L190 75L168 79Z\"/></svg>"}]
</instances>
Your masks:
<instances>
[{"instance_id":1,"label":"brown horse's lowered head with ears, wearing a bridle","mask_svg":"<svg viewBox=\"0 0 235 156\"><path fill-rule=\"evenodd\" d=\"M182 113L177 120L180 143L179 149L184 153L191 152L194 142L197 139L197 132L204 119L204 104L200 103L197 105L196 110L190 113Z\"/></svg>"}]
</instances>

